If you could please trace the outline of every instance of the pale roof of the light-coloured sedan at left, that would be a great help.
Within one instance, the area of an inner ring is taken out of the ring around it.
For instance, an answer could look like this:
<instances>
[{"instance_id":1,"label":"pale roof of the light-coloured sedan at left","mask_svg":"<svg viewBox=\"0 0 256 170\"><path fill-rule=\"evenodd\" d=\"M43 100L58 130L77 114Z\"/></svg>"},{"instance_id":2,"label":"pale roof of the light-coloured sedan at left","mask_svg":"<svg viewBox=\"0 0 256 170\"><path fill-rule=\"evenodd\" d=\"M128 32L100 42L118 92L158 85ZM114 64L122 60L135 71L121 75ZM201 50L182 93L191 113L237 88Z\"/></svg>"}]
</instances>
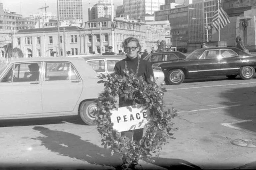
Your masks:
<instances>
[{"instance_id":1,"label":"pale roof of the light-coloured sedan at left","mask_svg":"<svg viewBox=\"0 0 256 170\"><path fill-rule=\"evenodd\" d=\"M69 58L69 57L36 57L36 58L20 58L9 60L9 63L25 63L25 62L44 62L44 61L81 61L81 58Z\"/></svg>"}]
</instances>

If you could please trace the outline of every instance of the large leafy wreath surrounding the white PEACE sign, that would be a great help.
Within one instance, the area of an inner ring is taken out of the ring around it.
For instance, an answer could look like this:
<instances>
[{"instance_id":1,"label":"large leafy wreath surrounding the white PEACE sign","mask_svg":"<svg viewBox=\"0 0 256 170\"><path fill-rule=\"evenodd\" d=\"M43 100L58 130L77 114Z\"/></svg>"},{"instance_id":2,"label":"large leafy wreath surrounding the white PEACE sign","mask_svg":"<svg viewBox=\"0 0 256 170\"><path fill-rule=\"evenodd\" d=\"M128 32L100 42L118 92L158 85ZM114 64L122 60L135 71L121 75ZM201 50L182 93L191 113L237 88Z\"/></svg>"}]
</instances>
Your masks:
<instances>
[{"instance_id":1,"label":"large leafy wreath surrounding the white PEACE sign","mask_svg":"<svg viewBox=\"0 0 256 170\"><path fill-rule=\"evenodd\" d=\"M139 160L154 162L155 157L159 156L162 146L169 143L173 123L171 119L177 116L177 110L173 107L168 111L163 111L163 95L165 88L158 87L155 82L148 84L143 81L143 77L129 74L127 70L124 76L117 74L101 74L98 76L98 83L104 83L105 89L99 94L97 100L97 116L94 120L97 130L102 137L102 146L111 149L111 155L118 153L122 159L122 169L135 169ZM132 141L121 136L121 133L113 129L111 123L111 110L118 109L119 100L132 100L132 105L140 105L147 112L148 123L144 127L145 134L142 139Z\"/></svg>"}]
</instances>

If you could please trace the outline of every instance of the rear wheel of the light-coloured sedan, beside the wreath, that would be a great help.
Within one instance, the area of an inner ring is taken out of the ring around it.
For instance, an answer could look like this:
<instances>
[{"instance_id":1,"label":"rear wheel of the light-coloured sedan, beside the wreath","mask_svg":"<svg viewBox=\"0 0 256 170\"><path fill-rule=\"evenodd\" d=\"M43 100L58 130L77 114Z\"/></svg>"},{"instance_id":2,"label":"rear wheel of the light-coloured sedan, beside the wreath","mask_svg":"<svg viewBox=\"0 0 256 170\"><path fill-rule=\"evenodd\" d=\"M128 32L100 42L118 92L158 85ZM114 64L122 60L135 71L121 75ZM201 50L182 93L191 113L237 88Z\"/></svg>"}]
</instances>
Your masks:
<instances>
[{"instance_id":1,"label":"rear wheel of the light-coloured sedan, beside the wreath","mask_svg":"<svg viewBox=\"0 0 256 170\"><path fill-rule=\"evenodd\" d=\"M79 115L82 121L87 125L95 125L97 104L93 101L84 101L80 105Z\"/></svg>"}]
</instances>

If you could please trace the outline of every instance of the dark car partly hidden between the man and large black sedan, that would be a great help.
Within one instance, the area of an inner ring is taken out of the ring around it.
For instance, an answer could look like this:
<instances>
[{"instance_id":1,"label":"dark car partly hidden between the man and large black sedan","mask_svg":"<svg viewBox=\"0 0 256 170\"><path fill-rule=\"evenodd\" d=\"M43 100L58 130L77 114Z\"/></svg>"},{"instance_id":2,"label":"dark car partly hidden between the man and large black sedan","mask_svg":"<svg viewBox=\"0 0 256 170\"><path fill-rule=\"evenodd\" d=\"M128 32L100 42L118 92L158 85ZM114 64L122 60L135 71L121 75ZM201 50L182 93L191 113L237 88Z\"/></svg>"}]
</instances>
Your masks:
<instances>
[{"instance_id":1,"label":"dark car partly hidden between the man and large black sedan","mask_svg":"<svg viewBox=\"0 0 256 170\"><path fill-rule=\"evenodd\" d=\"M144 60L152 64L163 63L168 61L179 61L185 59L187 56L179 51L167 51L148 54Z\"/></svg>"}]
</instances>

